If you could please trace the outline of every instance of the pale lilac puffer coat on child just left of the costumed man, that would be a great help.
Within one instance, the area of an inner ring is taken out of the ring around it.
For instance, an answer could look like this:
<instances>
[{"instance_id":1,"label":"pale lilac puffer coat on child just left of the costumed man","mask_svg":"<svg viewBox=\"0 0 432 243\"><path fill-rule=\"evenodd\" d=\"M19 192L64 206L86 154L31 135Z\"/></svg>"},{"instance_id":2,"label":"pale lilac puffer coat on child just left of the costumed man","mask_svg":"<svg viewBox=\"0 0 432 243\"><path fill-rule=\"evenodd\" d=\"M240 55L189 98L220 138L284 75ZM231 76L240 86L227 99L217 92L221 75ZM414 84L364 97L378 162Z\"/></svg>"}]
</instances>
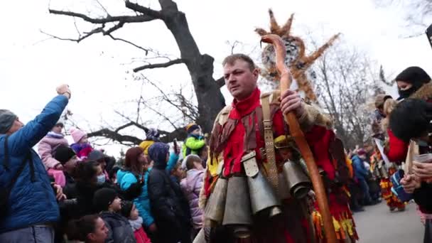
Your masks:
<instances>
[{"instance_id":1,"label":"pale lilac puffer coat on child just left of the costumed man","mask_svg":"<svg viewBox=\"0 0 432 243\"><path fill-rule=\"evenodd\" d=\"M190 215L192 216L193 227L195 229L202 228L203 212L198 206L198 199L200 198L200 190L204 183L204 173L204 170L191 169L188 171L186 178L180 182L181 190L183 190L183 194L189 202Z\"/></svg>"}]
</instances>

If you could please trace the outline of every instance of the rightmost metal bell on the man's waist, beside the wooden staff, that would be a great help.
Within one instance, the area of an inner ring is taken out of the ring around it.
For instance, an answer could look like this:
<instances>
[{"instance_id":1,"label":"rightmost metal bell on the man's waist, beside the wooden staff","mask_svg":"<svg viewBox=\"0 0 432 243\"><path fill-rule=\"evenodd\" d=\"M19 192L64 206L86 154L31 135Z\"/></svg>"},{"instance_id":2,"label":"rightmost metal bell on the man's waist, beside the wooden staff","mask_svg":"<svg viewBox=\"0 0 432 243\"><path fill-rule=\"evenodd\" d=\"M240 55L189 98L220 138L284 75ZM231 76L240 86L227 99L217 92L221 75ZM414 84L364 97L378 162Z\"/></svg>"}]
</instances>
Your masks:
<instances>
[{"instance_id":1,"label":"rightmost metal bell on the man's waist, beside the wooden staff","mask_svg":"<svg viewBox=\"0 0 432 243\"><path fill-rule=\"evenodd\" d=\"M287 161L284 163L284 175L289 191L294 198L301 199L308 195L312 183L301 165L293 161Z\"/></svg>"}]
</instances>

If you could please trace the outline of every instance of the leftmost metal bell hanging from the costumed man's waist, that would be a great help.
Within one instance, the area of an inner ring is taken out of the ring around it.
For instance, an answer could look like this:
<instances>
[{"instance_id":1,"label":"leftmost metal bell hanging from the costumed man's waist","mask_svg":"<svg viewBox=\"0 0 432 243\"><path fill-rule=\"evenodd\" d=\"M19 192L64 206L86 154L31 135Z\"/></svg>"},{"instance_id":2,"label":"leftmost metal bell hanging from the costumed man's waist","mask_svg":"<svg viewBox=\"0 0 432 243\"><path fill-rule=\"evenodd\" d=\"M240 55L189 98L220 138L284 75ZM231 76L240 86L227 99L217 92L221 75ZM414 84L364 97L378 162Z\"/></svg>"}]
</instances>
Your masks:
<instances>
[{"instance_id":1,"label":"leftmost metal bell hanging from the costumed man's waist","mask_svg":"<svg viewBox=\"0 0 432 243\"><path fill-rule=\"evenodd\" d=\"M227 200L227 187L228 180L225 178L218 178L212 195L204 209L205 225L207 227L214 227L222 223L225 202Z\"/></svg>"}]
</instances>

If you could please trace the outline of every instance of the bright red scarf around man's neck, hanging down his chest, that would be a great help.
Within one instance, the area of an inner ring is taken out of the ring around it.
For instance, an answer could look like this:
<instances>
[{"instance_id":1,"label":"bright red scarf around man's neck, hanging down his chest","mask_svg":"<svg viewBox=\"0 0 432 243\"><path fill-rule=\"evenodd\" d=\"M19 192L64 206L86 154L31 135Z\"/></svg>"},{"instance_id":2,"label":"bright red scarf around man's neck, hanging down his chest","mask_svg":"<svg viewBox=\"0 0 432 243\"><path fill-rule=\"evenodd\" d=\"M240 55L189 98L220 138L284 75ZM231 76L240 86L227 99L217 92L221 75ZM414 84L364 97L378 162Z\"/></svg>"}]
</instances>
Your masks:
<instances>
[{"instance_id":1,"label":"bright red scarf around man's neck, hanging down his chest","mask_svg":"<svg viewBox=\"0 0 432 243\"><path fill-rule=\"evenodd\" d=\"M237 126L232 131L224 150L224 163L225 170L224 175L227 176L231 172L239 173L242 171L242 156L244 153L244 136L246 129L242 123L242 118L254 112L257 107L261 106L260 97L261 92L258 88L252 92L247 99L237 101L234 99L232 102L232 110L229 112L229 119L237 120ZM257 119L255 117L255 119ZM249 123L252 123L253 119L250 117ZM250 124L249 124L250 125Z\"/></svg>"}]
</instances>

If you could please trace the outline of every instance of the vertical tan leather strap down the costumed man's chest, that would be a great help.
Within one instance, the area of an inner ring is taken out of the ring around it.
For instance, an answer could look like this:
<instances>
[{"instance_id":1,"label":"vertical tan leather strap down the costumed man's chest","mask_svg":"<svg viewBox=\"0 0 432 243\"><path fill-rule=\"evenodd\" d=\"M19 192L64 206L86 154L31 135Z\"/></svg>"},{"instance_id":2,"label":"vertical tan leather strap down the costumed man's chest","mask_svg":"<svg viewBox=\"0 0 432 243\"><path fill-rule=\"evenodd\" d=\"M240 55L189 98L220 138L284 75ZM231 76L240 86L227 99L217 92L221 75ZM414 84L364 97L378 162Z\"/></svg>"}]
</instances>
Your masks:
<instances>
[{"instance_id":1,"label":"vertical tan leather strap down the costumed man's chest","mask_svg":"<svg viewBox=\"0 0 432 243\"><path fill-rule=\"evenodd\" d=\"M276 194L278 193L278 169L276 167L276 154L274 151L274 139L273 139L273 121L271 121L270 115L270 103L269 96L261 97L262 117L264 123L264 142L266 148L267 163L263 163L264 168L267 172L267 178L271 185L273 185Z\"/></svg>"}]
</instances>

